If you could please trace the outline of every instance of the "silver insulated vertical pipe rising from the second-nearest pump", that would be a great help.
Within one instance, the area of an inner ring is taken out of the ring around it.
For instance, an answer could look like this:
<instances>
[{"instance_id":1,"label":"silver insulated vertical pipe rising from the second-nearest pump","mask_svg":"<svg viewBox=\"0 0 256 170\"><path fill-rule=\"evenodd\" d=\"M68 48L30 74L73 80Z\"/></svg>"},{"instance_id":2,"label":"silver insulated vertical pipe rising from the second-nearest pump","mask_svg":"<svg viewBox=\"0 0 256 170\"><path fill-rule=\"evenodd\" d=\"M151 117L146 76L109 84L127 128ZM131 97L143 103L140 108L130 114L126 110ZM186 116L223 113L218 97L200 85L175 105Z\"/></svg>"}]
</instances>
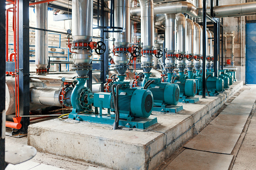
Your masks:
<instances>
[{"instance_id":1,"label":"silver insulated vertical pipe rising from the second-nearest pump","mask_svg":"<svg viewBox=\"0 0 256 170\"><path fill-rule=\"evenodd\" d=\"M115 26L125 28L125 32L114 33L116 47L129 47L131 43L130 2L127 0L115 0ZM113 56L115 69L119 75L125 75L129 63L129 53L116 52Z\"/></svg>"}]
</instances>

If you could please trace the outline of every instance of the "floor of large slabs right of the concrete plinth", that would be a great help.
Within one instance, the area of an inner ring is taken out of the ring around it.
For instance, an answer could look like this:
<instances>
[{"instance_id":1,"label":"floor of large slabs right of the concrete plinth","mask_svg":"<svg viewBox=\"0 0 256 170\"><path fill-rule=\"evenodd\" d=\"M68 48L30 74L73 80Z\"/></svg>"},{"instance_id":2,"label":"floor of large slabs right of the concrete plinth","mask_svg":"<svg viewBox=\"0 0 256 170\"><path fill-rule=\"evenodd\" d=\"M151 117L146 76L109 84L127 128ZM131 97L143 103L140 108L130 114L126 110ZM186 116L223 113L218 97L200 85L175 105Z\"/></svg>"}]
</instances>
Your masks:
<instances>
[{"instance_id":1,"label":"floor of large slabs right of the concrete plinth","mask_svg":"<svg viewBox=\"0 0 256 170\"><path fill-rule=\"evenodd\" d=\"M255 99L256 86L245 86L205 129L173 155L164 169L255 169Z\"/></svg>"}]
</instances>

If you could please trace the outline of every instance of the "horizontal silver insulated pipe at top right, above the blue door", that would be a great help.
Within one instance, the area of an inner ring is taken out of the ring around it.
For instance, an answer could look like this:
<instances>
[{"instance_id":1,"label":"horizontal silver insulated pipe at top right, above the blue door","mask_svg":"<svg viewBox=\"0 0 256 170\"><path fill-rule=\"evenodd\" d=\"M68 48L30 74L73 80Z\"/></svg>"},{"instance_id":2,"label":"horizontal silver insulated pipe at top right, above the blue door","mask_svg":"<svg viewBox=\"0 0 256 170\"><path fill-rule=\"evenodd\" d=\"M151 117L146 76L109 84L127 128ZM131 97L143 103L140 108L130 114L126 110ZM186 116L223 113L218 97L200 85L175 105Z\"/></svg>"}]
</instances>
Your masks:
<instances>
[{"instance_id":1,"label":"horizontal silver insulated pipe at top right, above the blue door","mask_svg":"<svg viewBox=\"0 0 256 170\"><path fill-rule=\"evenodd\" d=\"M238 17L256 14L256 2L214 7L215 17Z\"/></svg>"}]
</instances>

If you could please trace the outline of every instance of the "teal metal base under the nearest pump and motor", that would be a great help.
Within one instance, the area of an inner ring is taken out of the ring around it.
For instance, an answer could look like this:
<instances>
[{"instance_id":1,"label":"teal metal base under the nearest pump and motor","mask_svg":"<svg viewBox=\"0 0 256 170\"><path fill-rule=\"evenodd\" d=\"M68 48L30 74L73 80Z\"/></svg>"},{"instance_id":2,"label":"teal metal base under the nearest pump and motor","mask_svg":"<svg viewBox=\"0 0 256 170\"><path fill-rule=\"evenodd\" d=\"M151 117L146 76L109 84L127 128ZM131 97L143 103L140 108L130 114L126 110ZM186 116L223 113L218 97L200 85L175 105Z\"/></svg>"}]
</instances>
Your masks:
<instances>
[{"instance_id":1,"label":"teal metal base under the nearest pump and motor","mask_svg":"<svg viewBox=\"0 0 256 170\"><path fill-rule=\"evenodd\" d=\"M115 122L115 118L111 116L111 114L72 114L68 115L68 118L77 120L77 121L88 121L93 123L100 124L110 124L113 125ZM119 125L127 128L138 128L138 129L146 129L149 126L157 123L156 117L148 117L148 118L139 118L135 117L133 121L119 119Z\"/></svg>"}]
</instances>

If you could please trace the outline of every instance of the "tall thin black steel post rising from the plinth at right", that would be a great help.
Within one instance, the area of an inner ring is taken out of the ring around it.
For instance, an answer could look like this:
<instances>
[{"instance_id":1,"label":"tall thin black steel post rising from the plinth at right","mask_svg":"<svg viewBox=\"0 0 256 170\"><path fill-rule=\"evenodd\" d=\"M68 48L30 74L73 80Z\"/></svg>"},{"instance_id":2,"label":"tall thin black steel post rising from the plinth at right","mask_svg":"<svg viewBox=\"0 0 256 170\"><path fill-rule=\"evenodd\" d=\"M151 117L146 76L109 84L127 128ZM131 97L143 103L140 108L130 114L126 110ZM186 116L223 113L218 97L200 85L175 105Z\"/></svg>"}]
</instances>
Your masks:
<instances>
[{"instance_id":1,"label":"tall thin black steel post rising from the plinth at right","mask_svg":"<svg viewBox=\"0 0 256 170\"><path fill-rule=\"evenodd\" d=\"M203 0L203 92L202 92L202 98L206 98L205 92L206 92L206 68L205 68L205 60L206 60L206 0Z\"/></svg>"}]
</instances>

